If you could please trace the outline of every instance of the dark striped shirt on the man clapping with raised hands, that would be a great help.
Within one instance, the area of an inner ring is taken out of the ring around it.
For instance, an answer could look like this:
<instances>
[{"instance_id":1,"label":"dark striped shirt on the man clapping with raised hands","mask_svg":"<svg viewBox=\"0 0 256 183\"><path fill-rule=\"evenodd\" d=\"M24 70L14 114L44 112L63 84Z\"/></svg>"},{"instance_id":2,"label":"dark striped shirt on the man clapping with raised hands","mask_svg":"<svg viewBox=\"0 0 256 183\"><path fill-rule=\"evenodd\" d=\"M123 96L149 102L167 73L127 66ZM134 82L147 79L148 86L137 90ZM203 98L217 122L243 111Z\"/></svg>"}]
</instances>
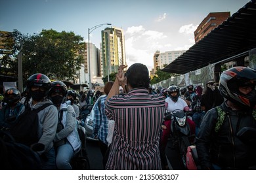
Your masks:
<instances>
[{"instance_id":1,"label":"dark striped shirt on the man clapping with raised hands","mask_svg":"<svg viewBox=\"0 0 256 183\"><path fill-rule=\"evenodd\" d=\"M165 98L135 88L106 103L106 116L115 121L106 169L161 169L159 141Z\"/></svg>"}]
</instances>

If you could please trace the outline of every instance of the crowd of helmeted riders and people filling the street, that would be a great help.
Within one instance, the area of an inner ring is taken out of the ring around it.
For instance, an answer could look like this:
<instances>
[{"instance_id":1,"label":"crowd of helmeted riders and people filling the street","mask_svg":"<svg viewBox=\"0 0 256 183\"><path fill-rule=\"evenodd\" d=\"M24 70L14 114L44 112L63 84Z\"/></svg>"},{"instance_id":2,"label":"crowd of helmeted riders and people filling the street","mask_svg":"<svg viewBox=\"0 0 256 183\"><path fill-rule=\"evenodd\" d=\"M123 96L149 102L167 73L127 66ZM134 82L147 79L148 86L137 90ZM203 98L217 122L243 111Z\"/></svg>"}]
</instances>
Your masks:
<instances>
[{"instance_id":1,"label":"crowd of helmeted riders and people filling the street","mask_svg":"<svg viewBox=\"0 0 256 183\"><path fill-rule=\"evenodd\" d=\"M227 69L219 85L210 80L205 86L156 89L150 85L146 65L135 63L124 72L126 67L119 66L116 80L107 82L104 92L77 93L61 81L32 75L24 99L16 88L3 93L0 128L27 146L43 144L37 151L41 169L72 169L70 161L81 148L79 114L83 107L94 105L93 136L104 169L169 169L165 148L173 120L165 116L179 109L188 116L202 169L256 169L255 131L250 133L253 137L243 136L246 127L256 130L255 69ZM19 116L37 108L36 132L16 135Z\"/></svg>"}]
</instances>

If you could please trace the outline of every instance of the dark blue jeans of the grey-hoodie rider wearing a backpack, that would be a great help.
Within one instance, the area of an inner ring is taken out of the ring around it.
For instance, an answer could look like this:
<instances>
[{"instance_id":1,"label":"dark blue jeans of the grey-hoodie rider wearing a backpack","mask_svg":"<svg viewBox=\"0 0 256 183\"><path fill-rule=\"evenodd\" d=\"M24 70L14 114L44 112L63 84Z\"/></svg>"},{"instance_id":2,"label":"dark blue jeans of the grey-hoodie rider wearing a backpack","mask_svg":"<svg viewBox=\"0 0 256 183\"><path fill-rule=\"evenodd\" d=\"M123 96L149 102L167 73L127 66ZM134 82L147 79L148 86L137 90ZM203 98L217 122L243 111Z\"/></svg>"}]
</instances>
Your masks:
<instances>
[{"instance_id":1,"label":"dark blue jeans of the grey-hoodie rider wearing a backpack","mask_svg":"<svg viewBox=\"0 0 256 183\"><path fill-rule=\"evenodd\" d=\"M43 170L56 170L55 150L53 147L48 152L43 153L40 158Z\"/></svg>"}]
</instances>

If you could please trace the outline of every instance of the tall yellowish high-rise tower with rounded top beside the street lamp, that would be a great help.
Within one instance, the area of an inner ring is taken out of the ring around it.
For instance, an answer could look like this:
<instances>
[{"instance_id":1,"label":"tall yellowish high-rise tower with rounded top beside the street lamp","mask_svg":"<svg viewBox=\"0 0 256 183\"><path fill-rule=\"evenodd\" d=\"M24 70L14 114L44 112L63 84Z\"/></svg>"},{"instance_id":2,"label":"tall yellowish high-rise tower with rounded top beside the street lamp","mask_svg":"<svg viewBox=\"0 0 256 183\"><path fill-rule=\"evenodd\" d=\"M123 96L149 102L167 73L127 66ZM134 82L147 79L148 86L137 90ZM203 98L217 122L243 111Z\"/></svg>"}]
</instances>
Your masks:
<instances>
[{"instance_id":1,"label":"tall yellowish high-rise tower with rounded top beside the street lamp","mask_svg":"<svg viewBox=\"0 0 256 183\"><path fill-rule=\"evenodd\" d=\"M127 65L125 58L125 38L123 29L107 27L101 31L102 37L102 75L117 73L119 65Z\"/></svg>"}]
</instances>

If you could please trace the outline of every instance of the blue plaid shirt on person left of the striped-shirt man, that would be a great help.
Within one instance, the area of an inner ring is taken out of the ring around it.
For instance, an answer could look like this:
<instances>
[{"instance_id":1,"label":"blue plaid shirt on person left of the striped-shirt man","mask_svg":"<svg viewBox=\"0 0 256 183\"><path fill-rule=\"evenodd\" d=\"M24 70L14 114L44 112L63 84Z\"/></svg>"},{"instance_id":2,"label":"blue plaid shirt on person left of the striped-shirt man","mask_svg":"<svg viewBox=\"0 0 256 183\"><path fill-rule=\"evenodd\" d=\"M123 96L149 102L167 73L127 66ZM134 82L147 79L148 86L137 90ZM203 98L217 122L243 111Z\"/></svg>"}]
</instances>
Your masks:
<instances>
[{"instance_id":1,"label":"blue plaid shirt on person left of the striped-shirt man","mask_svg":"<svg viewBox=\"0 0 256 183\"><path fill-rule=\"evenodd\" d=\"M98 108L98 102L100 102L100 108ZM108 118L105 114L105 102L106 95L100 96L95 102L95 107L93 108L93 135L97 135L100 141L104 142L104 144L108 144L106 141L106 137L108 135Z\"/></svg>"}]
</instances>

